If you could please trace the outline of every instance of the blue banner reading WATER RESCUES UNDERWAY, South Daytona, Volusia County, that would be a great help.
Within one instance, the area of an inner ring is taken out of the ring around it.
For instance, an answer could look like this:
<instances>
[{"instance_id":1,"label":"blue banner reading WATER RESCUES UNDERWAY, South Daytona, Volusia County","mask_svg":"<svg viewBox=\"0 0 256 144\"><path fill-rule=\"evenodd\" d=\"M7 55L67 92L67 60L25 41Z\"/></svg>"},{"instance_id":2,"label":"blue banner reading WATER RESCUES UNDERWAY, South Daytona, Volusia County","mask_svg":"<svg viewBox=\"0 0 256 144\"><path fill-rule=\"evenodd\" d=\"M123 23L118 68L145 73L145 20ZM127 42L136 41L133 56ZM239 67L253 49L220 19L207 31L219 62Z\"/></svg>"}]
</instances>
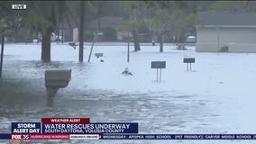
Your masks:
<instances>
[{"instance_id":1,"label":"blue banner reading WATER RESCUES UNDERWAY, South Daytona, Volusia County","mask_svg":"<svg viewBox=\"0 0 256 144\"><path fill-rule=\"evenodd\" d=\"M42 133L138 133L137 122L93 122L89 124L42 124Z\"/></svg>"}]
</instances>

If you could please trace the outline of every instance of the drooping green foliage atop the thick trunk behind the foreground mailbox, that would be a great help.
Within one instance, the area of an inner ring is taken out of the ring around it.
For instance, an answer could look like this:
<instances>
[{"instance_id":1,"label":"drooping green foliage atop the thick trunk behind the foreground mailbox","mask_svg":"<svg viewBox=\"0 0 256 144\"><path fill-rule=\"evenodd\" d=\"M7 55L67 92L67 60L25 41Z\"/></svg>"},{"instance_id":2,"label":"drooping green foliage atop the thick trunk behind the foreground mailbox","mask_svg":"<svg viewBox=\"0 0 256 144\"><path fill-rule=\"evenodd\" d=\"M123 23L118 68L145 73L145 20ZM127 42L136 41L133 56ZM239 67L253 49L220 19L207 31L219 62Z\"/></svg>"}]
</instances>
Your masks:
<instances>
[{"instance_id":1,"label":"drooping green foliage atop the thick trunk behind the foreground mailbox","mask_svg":"<svg viewBox=\"0 0 256 144\"><path fill-rule=\"evenodd\" d=\"M22 23L34 31L56 31L64 17L70 17L67 1L29 1Z\"/></svg>"}]
</instances>

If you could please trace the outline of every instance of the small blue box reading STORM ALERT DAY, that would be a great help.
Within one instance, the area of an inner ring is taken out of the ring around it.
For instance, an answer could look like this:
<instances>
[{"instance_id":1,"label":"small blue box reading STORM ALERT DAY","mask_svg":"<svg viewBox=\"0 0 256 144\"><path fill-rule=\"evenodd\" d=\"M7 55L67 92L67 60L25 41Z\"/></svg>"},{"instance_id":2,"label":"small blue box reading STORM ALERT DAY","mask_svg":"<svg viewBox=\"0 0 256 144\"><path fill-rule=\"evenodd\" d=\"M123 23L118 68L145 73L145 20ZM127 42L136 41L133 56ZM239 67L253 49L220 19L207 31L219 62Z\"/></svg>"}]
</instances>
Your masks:
<instances>
[{"instance_id":1,"label":"small blue box reading STORM ALERT DAY","mask_svg":"<svg viewBox=\"0 0 256 144\"><path fill-rule=\"evenodd\" d=\"M12 122L12 133L41 133L41 122Z\"/></svg>"}]
</instances>

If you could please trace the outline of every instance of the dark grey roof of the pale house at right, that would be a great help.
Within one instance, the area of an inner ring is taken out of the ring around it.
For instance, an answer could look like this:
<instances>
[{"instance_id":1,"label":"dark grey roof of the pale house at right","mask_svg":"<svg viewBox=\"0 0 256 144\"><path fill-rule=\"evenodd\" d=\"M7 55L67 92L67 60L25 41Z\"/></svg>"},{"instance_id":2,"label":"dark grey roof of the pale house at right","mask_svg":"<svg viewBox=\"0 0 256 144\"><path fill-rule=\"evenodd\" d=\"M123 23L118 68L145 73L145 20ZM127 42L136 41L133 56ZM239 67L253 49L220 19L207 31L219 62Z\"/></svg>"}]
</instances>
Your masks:
<instances>
[{"instance_id":1,"label":"dark grey roof of the pale house at right","mask_svg":"<svg viewBox=\"0 0 256 144\"><path fill-rule=\"evenodd\" d=\"M202 12L200 25L256 25L256 13Z\"/></svg>"}]
</instances>

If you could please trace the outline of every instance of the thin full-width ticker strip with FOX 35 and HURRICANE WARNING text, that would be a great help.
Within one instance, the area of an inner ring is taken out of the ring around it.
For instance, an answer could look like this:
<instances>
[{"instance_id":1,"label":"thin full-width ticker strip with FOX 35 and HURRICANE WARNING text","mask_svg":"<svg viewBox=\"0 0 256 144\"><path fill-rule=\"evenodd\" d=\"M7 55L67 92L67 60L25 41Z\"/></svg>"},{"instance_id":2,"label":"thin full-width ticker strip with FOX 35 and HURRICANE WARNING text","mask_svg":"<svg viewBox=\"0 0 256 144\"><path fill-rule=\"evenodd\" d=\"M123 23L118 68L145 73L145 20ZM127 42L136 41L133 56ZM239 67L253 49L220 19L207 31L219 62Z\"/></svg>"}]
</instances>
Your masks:
<instances>
[{"instance_id":1,"label":"thin full-width ticker strip with FOX 35 and HURRICANE WARNING text","mask_svg":"<svg viewBox=\"0 0 256 144\"><path fill-rule=\"evenodd\" d=\"M0 139L32 141L42 139L256 139L256 134L0 134Z\"/></svg>"}]
</instances>

